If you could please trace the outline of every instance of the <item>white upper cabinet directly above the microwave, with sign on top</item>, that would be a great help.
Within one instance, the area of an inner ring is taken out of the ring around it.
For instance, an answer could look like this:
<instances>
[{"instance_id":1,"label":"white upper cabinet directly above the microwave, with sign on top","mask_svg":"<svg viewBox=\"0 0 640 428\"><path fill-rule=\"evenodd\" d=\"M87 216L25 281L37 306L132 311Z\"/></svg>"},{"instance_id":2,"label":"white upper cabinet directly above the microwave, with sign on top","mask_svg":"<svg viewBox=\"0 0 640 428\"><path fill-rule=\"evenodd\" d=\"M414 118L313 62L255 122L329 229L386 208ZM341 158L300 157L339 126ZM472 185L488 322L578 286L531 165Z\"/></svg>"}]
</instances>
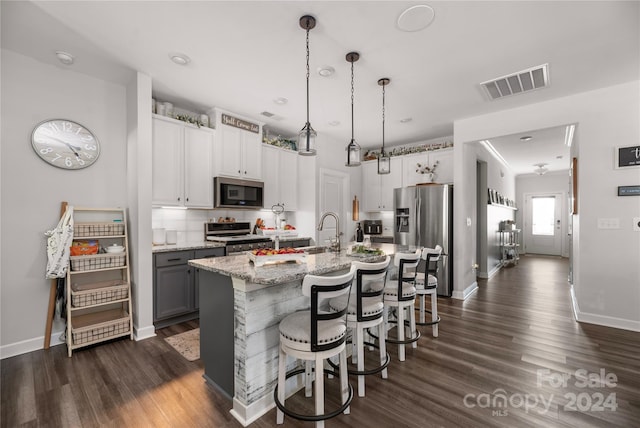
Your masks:
<instances>
[{"instance_id":1,"label":"white upper cabinet directly above the microwave, with sign on top","mask_svg":"<svg viewBox=\"0 0 640 428\"><path fill-rule=\"evenodd\" d=\"M216 174L262 180L262 124L216 109L216 129Z\"/></svg>"}]
</instances>

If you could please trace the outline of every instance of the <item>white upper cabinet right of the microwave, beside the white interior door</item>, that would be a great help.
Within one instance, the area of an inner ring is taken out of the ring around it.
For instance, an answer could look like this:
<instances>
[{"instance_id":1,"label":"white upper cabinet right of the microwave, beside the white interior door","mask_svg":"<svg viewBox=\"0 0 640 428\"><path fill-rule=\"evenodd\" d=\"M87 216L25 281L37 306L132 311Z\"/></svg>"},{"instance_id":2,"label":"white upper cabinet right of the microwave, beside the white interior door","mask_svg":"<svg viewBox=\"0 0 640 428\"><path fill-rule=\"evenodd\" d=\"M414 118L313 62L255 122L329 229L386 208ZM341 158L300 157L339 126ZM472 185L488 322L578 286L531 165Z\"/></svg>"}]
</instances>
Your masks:
<instances>
[{"instance_id":1,"label":"white upper cabinet right of the microwave, beside the white interior door","mask_svg":"<svg viewBox=\"0 0 640 428\"><path fill-rule=\"evenodd\" d=\"M298 153L263 145L264 207L283 205L285 211L298 208Z\"/></svg>"}]
</instances>

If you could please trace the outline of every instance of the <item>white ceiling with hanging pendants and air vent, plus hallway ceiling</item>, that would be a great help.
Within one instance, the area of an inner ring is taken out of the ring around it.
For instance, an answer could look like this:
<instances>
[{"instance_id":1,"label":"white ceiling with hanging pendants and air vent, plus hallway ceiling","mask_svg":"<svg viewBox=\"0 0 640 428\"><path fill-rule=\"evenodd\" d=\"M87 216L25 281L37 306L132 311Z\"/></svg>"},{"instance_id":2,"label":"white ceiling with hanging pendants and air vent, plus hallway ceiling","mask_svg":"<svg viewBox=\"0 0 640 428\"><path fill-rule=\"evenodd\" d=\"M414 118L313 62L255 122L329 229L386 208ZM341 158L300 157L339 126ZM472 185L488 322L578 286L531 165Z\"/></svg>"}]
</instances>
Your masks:
<instances>
[{"instance_id":1,"label":"white ceiling with hanging pendants and air vent, plus hallway ceiling","mask_svg":"<svg viewBox=\"0 0 640 428\"><path fill-rule=\"evenodd\" d=\"M363 148L381 144L382 77L391 79L385 142L393 146L451 137L457 119L640 75L639 2L429 1L421 4L433 8L433 22L420 31L400 31L398 17L417 4L2 1L2 47L109 81L127 82L137 70L151 76L158 100L198 112L222 107L265 122L271 134L292 137L306 120L305 31L299 19L311 14L317 25L309 34L310 122L320 137L349 142L351 64L345 55L359 52L354 134ZM60 64L57 50L72 53L75 63ZM174 64L169 54L175 52L191 62ZM547 88L490 100L480 86L542 64L549 64ZM323 66L335 73L321 77L317 70ZM276 98L288 102L277 104ZM265 111L274 116L263 116ZM516 174L531 172L539 162L555 168L564 133L558 133L561 140L544 130L528 133L534 139L526 145L498 140L495 146ZM565 158L561 169L567 166Z\"/></svg>"}]
</instances>

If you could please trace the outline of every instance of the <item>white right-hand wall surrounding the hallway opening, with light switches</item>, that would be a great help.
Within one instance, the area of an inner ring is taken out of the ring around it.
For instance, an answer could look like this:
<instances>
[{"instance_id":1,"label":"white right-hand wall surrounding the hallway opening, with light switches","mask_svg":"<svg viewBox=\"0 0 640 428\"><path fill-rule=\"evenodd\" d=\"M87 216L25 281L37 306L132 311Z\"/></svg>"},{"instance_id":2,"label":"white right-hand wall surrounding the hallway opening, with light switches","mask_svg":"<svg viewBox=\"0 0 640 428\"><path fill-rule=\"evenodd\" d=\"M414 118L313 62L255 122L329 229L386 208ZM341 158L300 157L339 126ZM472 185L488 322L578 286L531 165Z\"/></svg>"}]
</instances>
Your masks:
<instances>
[{"instance_id":1,"label":"white right-hand wall surrounding the hallway opening, with light switches","mask_svg":"<svg viewBox=\"0 0 640 428\"><path fill-rule=\"evenodd\" d=\"M640 198L618 197L617 186L640 183L640 169L613 168L614 146L640 141L640 81L531 104L454 123L456 184L455 290L475 279L473 240L466 217L473 214L475 162L469 142L524 130L577 123L578 214L574 216L574 309L581 321L640 331ZM620 229L598 229L598 218L619 218ZM469 245L473 245L469 247ZM474 250L475 251L475 250Z\"/></svg>"}]
</instances>

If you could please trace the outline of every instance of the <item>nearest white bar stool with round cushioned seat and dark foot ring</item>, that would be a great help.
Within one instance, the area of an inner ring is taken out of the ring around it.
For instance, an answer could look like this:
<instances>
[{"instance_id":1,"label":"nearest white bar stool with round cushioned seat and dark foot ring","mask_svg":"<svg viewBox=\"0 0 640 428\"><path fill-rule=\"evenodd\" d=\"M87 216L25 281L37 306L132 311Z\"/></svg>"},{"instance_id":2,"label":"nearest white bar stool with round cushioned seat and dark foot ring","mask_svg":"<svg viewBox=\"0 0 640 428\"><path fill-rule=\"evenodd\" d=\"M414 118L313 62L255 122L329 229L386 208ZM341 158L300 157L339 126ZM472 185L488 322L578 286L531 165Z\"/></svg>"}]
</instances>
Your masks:
<instances>
[{"instance_id":1,"label":"nearest white bar stool with round cushioned seat and dark foot ring","mask_svg":"<svg viewBox=\"0 0 640 428\"><path fill-rule=\"evenodd\" d=\"M332 311L328 307L329 299L343 295L349 296L351 283L355 275L355 266L342 275L316 276L307 275L302 281L302 294L311 298L311 307L306 311L298 311L287 315L279 325L280 352L278 361L278 385L273 391L274 400L278 407L276 423L284 422L284 415L304 421L315 421L316 427L324 427L324 420L349 413L349 404L353 399L353 389L349 385L347 374L346 320L347 307ZM348 299L347 299L348 302ZM287 355L304 360L305 368L295 369L286 373ZM342 406L330 413L324 411L324 373L338 376L330 370L324 369L324 360L335 355L340 359L340 391ZM306 373L306 396L311 393L311 363L315 362L315 415L296 413L285 407L286 379Z\"/></svg>"}]
</instances>

